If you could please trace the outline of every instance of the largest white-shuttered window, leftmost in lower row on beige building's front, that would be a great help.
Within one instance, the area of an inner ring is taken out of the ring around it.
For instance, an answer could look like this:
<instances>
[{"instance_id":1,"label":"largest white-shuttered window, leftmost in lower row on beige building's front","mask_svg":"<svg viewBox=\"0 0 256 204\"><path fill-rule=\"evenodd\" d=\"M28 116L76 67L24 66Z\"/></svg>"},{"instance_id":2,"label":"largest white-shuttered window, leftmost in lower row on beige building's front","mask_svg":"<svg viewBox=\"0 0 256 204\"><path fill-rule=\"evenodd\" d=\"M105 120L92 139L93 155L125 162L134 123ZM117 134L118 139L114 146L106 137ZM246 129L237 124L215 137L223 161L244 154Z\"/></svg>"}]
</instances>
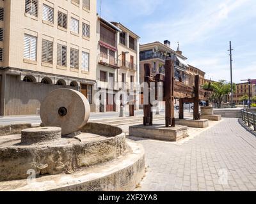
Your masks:
<instances>
[{"instance_id":1,"label":"largest white-shuttered window, leftmost in lower row on beige building's front","mask_svg":"<svg viewBox=\"0 0 256 204\"><path fill-rule=\"evenodd\" d=\"M29 34L24 35L24 59L36 61L37 38Z\"/></svg>"}]
</instances>

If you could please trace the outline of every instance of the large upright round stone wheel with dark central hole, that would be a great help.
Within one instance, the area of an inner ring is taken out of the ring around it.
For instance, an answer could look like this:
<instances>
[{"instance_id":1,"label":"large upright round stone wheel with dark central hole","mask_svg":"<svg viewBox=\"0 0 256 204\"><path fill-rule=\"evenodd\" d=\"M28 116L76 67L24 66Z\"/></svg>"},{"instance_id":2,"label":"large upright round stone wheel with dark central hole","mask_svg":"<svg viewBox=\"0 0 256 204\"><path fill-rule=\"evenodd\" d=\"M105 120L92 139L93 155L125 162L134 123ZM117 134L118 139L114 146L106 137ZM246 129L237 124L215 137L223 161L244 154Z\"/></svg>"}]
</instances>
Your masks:
<instances>
[{"instance_id":1,"label":"large upright round stone wheel with dark central hole","mask_svg":"<svg viewBox=\"0 0 256 204\"><path fill-rule=\"evenodd\" d=\"M62 135L70 135L88 122L90 104L81 92L56 89L42 102L40 117L44 126L60 127Z\"/></svg>"}]
</instances>

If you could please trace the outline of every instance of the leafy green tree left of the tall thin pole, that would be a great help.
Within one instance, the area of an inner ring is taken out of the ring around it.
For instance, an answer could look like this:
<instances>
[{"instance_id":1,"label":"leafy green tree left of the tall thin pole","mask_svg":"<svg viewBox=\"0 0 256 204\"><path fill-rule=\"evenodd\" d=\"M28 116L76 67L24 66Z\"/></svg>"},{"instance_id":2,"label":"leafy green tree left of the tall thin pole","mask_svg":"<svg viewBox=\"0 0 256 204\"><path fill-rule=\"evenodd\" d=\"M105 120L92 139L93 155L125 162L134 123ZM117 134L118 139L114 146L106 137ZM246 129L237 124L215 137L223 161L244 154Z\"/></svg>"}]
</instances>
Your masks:
<instances>
[{"instance_id":1,"label":"leafy green tree left of the tall thin pole","mask_svg":"<svg viewBox=\"0 0 256 204\"><path fill-rule=\"evenodd\" d=\"M209 84L204 85L204 89L209 89ZM212 96L211 101L218 104L218 108L221 108L221 102L223 97L231 92L231 83L225 80L220 80L219 82L211 82ZM233 92L236 92L236 84L233 83Z\"/></svg>"}]
</instances>

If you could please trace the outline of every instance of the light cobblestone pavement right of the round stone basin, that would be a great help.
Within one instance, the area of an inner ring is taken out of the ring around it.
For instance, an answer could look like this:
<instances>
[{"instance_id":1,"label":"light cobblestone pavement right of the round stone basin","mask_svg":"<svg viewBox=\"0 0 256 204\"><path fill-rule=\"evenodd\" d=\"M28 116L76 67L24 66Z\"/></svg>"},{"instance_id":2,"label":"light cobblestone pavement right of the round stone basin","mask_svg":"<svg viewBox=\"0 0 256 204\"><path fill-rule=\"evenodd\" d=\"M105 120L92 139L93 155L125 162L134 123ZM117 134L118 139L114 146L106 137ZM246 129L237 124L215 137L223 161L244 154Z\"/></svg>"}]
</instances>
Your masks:
<instances>
[{"instance_id":1,"label":"light cobblestone pavement right of the round stone basin","mask_svg":"<svg viewBox=\"0 0 256 204\"><path fill-rule=\"evenodd\" d=\"M256 191L256 138L237 119L184 143L136 140L148 165L138 191Z\"/></svg>"}]
</instances>

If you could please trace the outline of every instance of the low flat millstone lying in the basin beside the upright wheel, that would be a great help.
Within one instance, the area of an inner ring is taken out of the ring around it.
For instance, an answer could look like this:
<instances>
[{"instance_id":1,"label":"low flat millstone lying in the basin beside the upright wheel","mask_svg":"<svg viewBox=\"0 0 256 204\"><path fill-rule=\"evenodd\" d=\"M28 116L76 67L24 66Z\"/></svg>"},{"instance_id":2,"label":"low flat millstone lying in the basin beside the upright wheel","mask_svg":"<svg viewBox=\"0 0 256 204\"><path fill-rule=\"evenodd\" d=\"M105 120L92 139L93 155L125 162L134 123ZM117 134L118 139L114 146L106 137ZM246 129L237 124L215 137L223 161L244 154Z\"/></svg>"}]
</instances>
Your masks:
<instances>
[{"instance_id":1,"label":"low flat millstone lying in the basin beside the upright wheel","mask_svg":"<svg viewBox=\"0 0 256 204\"><path fill-rule=\"evenodd\" d=\"M61 128L29 128L21 131L21 143L31 145L34 143L49 142L61 138Z\"/></svg>"}]
</instances>

